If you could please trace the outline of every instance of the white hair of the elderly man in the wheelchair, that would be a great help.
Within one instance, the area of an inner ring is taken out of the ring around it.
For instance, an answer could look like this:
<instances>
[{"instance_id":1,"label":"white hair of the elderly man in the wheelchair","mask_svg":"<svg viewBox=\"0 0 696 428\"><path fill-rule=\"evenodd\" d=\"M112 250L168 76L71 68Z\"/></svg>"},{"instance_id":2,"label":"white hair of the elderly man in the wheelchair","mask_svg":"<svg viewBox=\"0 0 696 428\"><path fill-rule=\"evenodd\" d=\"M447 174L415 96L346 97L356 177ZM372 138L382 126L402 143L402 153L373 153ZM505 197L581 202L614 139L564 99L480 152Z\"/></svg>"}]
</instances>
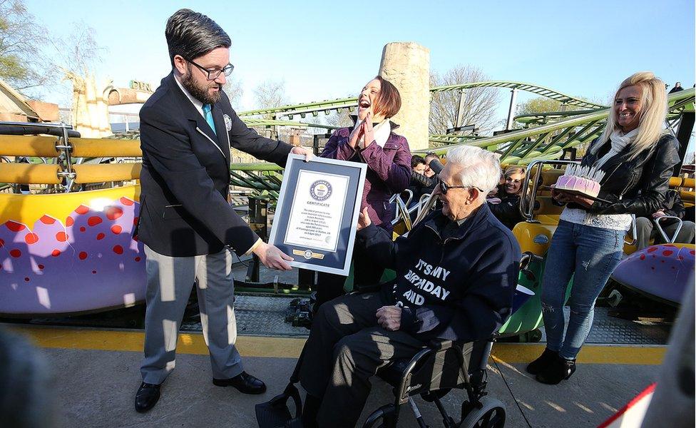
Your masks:
<instances>
[{"instance_id":1,"label":"white hair of the elderly man in the wheelchair","mask_svg":"<svg viewBox=\"0 0 696 428\"><path fill-rule=\"evenodd\" d=\"M461 146L447 152L447 163L460 165L461 185L482 190L479 198L486 198L488 192L498 185L501 177L500 160L496 153L474 146Z\"/></svg>"}]
</instances>

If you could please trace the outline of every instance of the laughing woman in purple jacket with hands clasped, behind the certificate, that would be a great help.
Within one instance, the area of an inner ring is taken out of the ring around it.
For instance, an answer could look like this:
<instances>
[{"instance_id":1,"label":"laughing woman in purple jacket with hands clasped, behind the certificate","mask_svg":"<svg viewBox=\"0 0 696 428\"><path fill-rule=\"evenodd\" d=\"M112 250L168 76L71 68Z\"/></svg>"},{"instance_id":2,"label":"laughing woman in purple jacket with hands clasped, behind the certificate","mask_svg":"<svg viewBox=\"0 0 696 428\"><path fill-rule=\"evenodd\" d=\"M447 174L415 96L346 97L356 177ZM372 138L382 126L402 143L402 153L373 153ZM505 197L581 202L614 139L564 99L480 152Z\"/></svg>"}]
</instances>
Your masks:
<instances>
[{"instance_id":1,"label":"laughing woman in purple jacket with hands clasped, behind the certificate","mask_svg":"<svg viewBox=\"0 0 696 428\"><path fill-rule=\"evenodd\" d=\"M334 131L327 141L322 158L367 163L367 178L360 209L367 207L373 223L391 232L394 205L389 198L408 188L411 179L411 151L406 138L394 133L399 126L389 121L401 108L399 90L377 76L362 88L358 98L358 115L353 128ZM354 284L379 282L383 270L370 263L364 248L353 250ZM317 304L343 294L346 277L319 273Z\"/></svg>"}]
</instances>

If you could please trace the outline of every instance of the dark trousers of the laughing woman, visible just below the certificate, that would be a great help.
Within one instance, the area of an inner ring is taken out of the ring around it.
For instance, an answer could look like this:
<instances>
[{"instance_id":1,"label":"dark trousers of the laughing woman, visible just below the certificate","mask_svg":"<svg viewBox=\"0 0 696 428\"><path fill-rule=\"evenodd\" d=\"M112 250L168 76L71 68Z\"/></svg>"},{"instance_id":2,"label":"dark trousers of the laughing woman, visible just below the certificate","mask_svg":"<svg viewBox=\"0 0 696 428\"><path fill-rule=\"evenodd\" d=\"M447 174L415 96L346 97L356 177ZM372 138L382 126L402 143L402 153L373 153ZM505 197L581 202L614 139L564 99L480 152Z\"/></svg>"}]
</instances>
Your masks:
<instances>
[{"instance_id":1,"label":"dark trousers of the laughing woman, visible just below the certificate","mask_svg":"<svg viewBox=\"0 0 696 428\"><path fill-rule=\"evenodd\" d=\"M374 260L370 260L364 248L357 243L353 248L353 284L362 286L377 285L382 278L384 268L375 265ZM344 295L344 285L347 277L334 275L332 273L317 273L317 303L314 305L314 312L319 306Z\"/></svg>"}]
</instances>

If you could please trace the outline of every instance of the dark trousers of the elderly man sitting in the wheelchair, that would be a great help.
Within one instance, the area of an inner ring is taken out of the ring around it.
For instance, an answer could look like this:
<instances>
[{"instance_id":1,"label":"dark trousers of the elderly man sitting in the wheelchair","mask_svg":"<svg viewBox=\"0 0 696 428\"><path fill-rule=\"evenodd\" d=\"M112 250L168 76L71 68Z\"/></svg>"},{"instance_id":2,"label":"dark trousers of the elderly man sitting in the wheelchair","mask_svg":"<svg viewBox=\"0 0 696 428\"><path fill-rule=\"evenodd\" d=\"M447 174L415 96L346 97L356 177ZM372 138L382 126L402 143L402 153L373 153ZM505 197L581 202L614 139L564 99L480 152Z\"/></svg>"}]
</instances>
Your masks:
<instances>
[{"instance_id":1,"label":"dark trousers of the elderly man sitting in the wheelchair","mask_svg":"<svg viewBox=\"0 0 696 428\"><path fill-rule=\"evenodd\" d=\"M345 295L314 317L300 383L322 399L319 427L354 427L369 396L369 378L389 360L411 358L423 347L406 332L377 325L375 312L384 305L379 292Z\"/></svg>"}]
</instances>

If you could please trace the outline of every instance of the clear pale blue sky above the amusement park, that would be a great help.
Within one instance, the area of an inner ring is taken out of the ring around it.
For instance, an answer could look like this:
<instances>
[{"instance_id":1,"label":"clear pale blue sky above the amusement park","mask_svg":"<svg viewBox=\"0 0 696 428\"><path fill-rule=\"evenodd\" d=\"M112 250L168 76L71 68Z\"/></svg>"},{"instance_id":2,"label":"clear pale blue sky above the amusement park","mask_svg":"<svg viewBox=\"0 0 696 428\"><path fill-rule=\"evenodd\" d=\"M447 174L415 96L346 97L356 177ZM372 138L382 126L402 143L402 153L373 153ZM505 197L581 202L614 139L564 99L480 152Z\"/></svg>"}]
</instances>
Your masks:
<instances>
[{"instance_id":1,"label":"clear pale blue sky above the amusement park","mask_svg":"<svg viewBox=\"0 0 696 428\"><path fill-rule=\"evenodd\" d=\"M175 10L203 12L232 38L243 108L253 88L285 80L290 101L356 93L377 73L382 47L415 41L431 70L457 64L493 80L536 83L607 99L625 77L654 71L670 86L694 84L694 1L53 1L27 0L53 34L83 21L108 49L99 73L116 86L155 84L169 71L165 22ZM504 91L502 104L508 103ZM518 97L524 101L525 97ZM506 106L501 107L505 111Z\"/></svg>"}]
</instances>

